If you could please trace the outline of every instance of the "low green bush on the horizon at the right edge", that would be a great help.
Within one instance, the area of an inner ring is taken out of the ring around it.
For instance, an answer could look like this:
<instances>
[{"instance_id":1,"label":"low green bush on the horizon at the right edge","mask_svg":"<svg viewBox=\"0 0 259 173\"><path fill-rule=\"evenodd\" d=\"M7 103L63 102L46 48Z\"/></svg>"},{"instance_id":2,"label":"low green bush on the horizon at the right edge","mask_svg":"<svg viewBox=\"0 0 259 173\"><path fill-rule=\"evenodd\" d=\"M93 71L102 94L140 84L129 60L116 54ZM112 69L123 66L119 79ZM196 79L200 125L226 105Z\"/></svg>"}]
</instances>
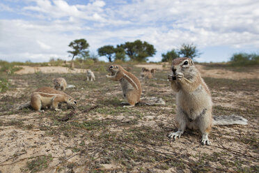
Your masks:
<instances>
[{"instance_id":1,"label":"low green bush on the horizon at the right edge","mask_svg":"<svg viewBox=\"0 0 259 173\"><path fill-rule=\"evenodd\" d=\"M251 66L259 64L258 54L236 53L230 58L230 64L233 66Z\"/></svg>"}]
</instances>

